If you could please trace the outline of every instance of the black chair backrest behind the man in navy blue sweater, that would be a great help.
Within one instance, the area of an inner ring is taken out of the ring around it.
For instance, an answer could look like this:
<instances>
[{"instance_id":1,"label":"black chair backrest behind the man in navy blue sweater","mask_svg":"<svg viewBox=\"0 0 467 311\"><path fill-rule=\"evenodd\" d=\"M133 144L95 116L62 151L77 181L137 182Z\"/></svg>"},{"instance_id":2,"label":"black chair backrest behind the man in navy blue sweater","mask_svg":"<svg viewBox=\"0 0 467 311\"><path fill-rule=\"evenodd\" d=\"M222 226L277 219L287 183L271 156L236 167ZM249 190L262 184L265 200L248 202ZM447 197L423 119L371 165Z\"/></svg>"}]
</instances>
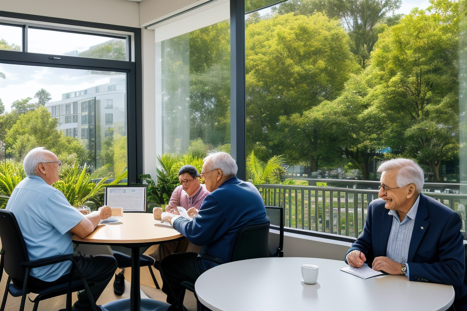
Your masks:
<instances>
[{"instance_id":1,"label":"black chair backrest behind the man in navy blue sweater","mask_svg":"<svg viewBox=\"0 0 467 311\"><path fill-rule=\"evenodd\" d=\"M234 241L229 262L269 257L269 221L243 227Z\"/></svg>"}]
</instances>

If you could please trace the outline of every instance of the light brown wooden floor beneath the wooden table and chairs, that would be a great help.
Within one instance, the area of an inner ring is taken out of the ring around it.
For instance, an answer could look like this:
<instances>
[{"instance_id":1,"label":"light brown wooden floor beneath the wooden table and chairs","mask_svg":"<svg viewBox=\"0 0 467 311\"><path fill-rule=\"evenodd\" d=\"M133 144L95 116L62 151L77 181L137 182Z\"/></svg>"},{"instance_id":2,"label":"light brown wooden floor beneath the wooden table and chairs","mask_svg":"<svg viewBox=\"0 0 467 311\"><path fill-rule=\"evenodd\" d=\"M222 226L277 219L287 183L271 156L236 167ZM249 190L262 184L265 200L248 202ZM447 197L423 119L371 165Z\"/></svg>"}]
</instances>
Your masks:
<instances>
[{"instance_id":1,"label":"light brown wooden floor beneath the wooden table and chairs","mask_svg":"<svg viewBox=\"0 0 467 311\"><path fill-rule=\"evenodd\" d=\"M0 244L1 247L1 244ZM152 267L151 267L152 268ZM156 275L157 282L159 285L162 287L162 279L159 274L159 271L152 268L154 271L154 274ZM120 269L119 269L120 271ZM3 293L5 291L5 286L7 283L7 274L5 271L3 272L3 277L0 282L0 303L1 300L3 299ZM116 300L116 299L121 299L121 298L129 298L130 297L130 286L131 283L129 282L130 280L130 275L131 275L131 268L126 268L125 269L125 292L121 297L115 296L113 293L113 278L107 285L106 289L102 293L102 295L99 297L99 300L97 301L97 304L106 304L110 301ZM149 273L148 267L142 267L141 269L141 297L142 298L151 298L151 299L156 299L156 300L161 300L164 301L166 300L167 296L161 291L157 290L155 288L155 285L152 281L151 275ZM36 295L30 294L31 299L34 299ZM65 308L66 306L66 295L55 297L55 298L50 298L44 301L41 301L39 303L39 308L38 311L56 311L60 310L62 308ZM77 300L76 293L73 293L72 296L72 301L75 302ZM7 305L5 307L5 311L16 311L19 310L21 304L21 297L12 297L11 295L8 295L7 298ZM186 291L185 295L185 301L184 301L185 307L190 310L190 311L196 311L196 299L190 291ZM28 298L26 298L26 306L24 308L25 311L31 311L33 308L33 303L29 301Z\"/></svg>"}]
</instances>

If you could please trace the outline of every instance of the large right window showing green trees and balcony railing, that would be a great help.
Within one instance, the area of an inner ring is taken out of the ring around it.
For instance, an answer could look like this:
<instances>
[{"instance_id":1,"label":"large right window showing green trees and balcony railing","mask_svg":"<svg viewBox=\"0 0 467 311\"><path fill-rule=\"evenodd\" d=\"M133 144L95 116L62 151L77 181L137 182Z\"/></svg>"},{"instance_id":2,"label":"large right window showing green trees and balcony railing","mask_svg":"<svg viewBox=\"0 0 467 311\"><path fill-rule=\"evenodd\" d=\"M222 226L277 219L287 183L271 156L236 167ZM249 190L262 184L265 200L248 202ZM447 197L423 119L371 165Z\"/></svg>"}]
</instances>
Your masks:
<instances>
[{"instance_id":1,"label":"large right window showing green trees and balcony railing","mask_svg":"<svg viewBox=\"0 0 467 311\"><path fill-rule=\"evenodd\" d=\"M245 16L248 179L285 207L286 226L358 236L376 168L410 158L424 194L465 222L459 2L341 2L289 0Z\"/></svg>"}]
</instances>

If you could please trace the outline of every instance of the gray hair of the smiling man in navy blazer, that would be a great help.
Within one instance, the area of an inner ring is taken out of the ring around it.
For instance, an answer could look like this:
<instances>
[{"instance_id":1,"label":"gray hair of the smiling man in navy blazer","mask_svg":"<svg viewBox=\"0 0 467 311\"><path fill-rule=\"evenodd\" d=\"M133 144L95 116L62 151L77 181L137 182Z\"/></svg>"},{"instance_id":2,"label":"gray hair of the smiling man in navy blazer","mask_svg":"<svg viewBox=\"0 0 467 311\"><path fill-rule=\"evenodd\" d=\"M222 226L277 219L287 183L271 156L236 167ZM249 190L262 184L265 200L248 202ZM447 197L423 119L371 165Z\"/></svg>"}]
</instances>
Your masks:
<instances>
[{"instance_id":1,"label":"gray hair of the smiling man in navy blazer","mask_svg":"<svg viewBox=\"0 0 467 311\"><path fill-rule=\"evenodd\" d=\"M424 175L423 170L414 160L410 159L392 159L384 162L378 167L378 172L398 170L396 182L397 187L404 187L408 184L414 184L417 194L422 192Z\"/></svg>"}]
</instances>

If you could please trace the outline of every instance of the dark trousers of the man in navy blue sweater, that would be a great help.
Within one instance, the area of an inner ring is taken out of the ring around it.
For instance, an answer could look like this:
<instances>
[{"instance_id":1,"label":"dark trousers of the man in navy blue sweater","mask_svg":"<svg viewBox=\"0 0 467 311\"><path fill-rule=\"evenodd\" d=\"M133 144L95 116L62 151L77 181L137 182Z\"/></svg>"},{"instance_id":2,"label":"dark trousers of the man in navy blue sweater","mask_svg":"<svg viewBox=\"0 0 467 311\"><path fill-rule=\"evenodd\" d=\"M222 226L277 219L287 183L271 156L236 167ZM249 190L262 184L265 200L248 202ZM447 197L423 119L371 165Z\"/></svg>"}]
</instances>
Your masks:
<instances>
[{"instance_id":1,"label":"dark trousers of the man in navy blue sweater","mask_svg":"<svg viewBox=\"0 0 467 311\"><path fill-rule=\"evenodd\" d=\"M204 271L197 253L179 253L165 257L161 262L162 291L167 294L167 303L172 304L169 310L177 310L183 304L185 289L180 285L183 281L195 283Z\"/></svg>"}]
</instances>

